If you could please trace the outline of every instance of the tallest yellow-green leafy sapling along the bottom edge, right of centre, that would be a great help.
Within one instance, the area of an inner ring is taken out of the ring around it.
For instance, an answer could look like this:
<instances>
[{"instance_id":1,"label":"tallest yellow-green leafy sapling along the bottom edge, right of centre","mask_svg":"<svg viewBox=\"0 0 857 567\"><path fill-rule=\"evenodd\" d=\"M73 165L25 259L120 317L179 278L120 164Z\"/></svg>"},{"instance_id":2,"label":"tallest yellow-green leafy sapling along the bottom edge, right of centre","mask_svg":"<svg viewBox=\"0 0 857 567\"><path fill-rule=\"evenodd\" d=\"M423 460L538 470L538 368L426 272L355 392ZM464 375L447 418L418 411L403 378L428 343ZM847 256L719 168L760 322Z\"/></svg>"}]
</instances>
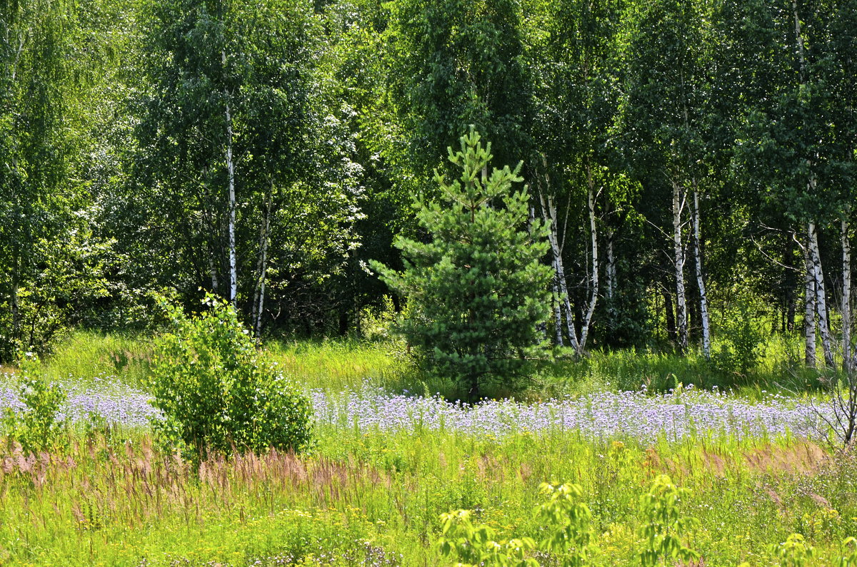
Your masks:
<instances>
[{"instance_id":1,"label":"tallest yellow-green leafy sapling along the bottom edge, right of centre","mask_svg":"<svg viewBox=\"0 0 857 567\"><path fill-rule=\"evenodd\" d=\"M680 514L679 504L689 495L688 489L675 486L666 474L658 474L650 492L640 497L644 524L639 530L643 537L639 558L643 567L699 558L698 552L681 542L682 536L698 525L696 518Z\"/></svg>"}]
</instances>

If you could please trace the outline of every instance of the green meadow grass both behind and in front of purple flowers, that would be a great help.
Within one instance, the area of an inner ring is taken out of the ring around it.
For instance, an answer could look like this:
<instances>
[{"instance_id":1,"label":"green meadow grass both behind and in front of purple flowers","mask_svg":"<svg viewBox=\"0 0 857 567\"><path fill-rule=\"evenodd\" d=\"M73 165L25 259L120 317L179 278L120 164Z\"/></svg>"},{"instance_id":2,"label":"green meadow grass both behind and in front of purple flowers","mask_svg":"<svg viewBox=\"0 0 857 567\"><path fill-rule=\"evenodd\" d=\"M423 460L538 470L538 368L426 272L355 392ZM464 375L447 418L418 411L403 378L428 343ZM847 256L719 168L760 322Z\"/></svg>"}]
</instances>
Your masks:
<instances>
[{"instance_id":1,"label":"green meadow grass both behind and in front of purple flowers","mask_svg":"<svg viewBox=\"0 0 857 567\"><path fill-rule=\"evenodd\" d=\"M794 339L771 340L743 375L693 355L596 352L534 367L522 397L678 383L734 386L759 399L787 382L812 393L814 377L788 371L794 348ZM266 349L308 389L454 395L450 385L425 379L394 343L288 341ZM110 374L139 386L151 352L147 337L75 332L44 370L84 385ZM345 423L317 424L316 438L309 455L213 458L198 470L161 451L145 427L78 425L64 448L35 457L7 442L0 446L0 565L443 564L435 544L438 518L449 510L476 510L477 522L501 538L538 539L533 510L543 481L583 487L599 549L593 565L634 565L640 498L661 473L691 491L681 513L699 523L680 535L704 565L779 564L768 546L794 532L816 547L807 565L830 565L845 551L842 540L857 534L857 459L802 439L703 432L640 443L567 430L496 438Z\"/></svg>"}]
</instances>

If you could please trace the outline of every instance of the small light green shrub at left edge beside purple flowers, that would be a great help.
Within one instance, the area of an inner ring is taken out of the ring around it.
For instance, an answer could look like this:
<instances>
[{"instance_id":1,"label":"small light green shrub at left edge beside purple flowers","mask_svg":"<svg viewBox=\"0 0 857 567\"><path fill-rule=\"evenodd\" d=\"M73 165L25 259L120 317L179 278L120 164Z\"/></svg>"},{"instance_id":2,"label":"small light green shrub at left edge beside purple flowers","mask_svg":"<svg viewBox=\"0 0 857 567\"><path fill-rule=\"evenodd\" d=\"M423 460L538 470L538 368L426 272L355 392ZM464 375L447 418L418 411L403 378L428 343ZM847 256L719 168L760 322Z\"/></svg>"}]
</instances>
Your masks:
<instances>
[{"instance_id":1,"label":"small light green shrub at left edge beside purple flowers","mask_svg":"<svg viewBox=\"0 0 857 567\"><path fill-rule=\"evenodd\" d=\"M57 449L63 444L67 423L59 417L66 394L58 384L49 384L39 375L39 359L31 353L21 362L18 390L26 409L7 408L3 415L3 430L9 441L21 444L25 454Z\"/></svg>"}]
</instances>

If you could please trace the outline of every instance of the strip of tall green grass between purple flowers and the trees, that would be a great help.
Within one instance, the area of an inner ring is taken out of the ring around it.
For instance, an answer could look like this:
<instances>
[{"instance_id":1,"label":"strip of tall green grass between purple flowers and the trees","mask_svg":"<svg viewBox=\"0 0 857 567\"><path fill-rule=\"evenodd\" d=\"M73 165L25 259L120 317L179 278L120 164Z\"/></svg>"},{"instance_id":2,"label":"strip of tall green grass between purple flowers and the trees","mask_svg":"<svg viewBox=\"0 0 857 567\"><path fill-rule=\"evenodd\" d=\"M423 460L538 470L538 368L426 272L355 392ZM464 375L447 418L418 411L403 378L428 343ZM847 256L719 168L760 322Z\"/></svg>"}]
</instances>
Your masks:
<instances>
[{"instance_id":1,"label":"strip of tall green grass between purple flowers and the trees","mask_svg":"<svg viewBox=\"0 0 857 567\"><path fill-rule=\"evenodd\" d=\"M604 389L668 391L676 385L717 386L758 397L763 390L815 392L822 383L818 372L802 367L800 337L771 336L758 348L758 362L746 373L724 369L717 362L722 343L715 342L713 360L696 352L675 355L650 349L591 352L583 360L560 357L534 361L518 381L523 391L499 380L488 385L489 397L525 399L586 394ZM307 389L356 390L363 385L388 391L462 395L451 381L423 373L401 343L342 340L269 340L267 356ZM128 385L141 386L152 359L152 337L75 331L45 360L52 379L89 380L115 375ZM14 370L14 369L9 369Z\"/></svg>"}]
</instances>

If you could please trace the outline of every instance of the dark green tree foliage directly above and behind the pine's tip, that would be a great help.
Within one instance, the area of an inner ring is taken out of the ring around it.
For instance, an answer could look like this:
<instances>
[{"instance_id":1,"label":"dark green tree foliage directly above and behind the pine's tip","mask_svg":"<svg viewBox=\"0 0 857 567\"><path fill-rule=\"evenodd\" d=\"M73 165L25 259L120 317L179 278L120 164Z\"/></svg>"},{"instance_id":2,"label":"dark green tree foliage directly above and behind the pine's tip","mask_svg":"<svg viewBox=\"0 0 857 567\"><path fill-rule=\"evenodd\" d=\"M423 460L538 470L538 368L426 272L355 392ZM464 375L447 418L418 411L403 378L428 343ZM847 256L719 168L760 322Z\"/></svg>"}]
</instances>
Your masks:
<instances>
[{"instance_id":1,"label":"dark green tree foliage directly above and behind the pine's tip","mask_svg":"<svg viewBox=\"0 0 857 567\"><path fill-rule=\"evenodd\" d=\"M522 57L521 3L394 0L387 8L387 80L417 182L428 182L467 124L494 140L501 163L529 155L532 83Z\"/></svg>"}]
</instances>

